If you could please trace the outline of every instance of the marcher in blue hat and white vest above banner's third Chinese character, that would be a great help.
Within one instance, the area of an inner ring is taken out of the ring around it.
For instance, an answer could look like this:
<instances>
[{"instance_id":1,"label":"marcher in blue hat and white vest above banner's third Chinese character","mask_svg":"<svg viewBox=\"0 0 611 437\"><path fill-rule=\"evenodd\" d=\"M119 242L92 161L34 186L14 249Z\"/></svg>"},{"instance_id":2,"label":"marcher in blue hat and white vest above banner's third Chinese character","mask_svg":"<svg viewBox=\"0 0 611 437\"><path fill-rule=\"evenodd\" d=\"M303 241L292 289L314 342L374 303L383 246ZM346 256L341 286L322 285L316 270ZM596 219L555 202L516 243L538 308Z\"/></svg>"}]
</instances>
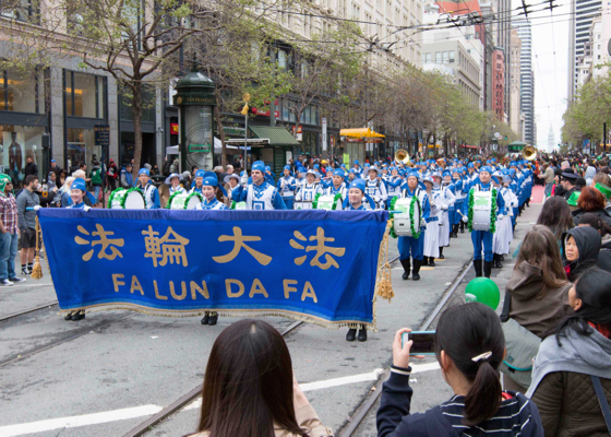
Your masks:
<instances>
[{"instance_id":1,"label":"marcher in blue hat and white vest above banner's third Chinese character","mask_svg":"<svg viewBox=\"0 0 611 437\"><path fill-rule=\"evenodd\" d=\"M285 202L276 187L265 180L265 164L262 161L252 163L252 184L245 189L237 187L232 192L235 202L247 202L248 210L286 210Z\"/></svg>"}]
</instances>

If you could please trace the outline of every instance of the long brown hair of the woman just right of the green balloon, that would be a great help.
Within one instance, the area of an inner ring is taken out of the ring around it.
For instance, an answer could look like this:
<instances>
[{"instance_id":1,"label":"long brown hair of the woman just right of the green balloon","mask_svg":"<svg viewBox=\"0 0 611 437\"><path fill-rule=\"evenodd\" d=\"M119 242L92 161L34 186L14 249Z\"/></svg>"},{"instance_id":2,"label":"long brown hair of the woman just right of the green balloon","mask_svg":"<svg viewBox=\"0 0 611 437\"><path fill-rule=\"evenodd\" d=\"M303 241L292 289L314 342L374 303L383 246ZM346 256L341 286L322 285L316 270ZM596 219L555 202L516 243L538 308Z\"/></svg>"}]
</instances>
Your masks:
<instances>
[{"instance_id":1,"label":"long brown hair of the woman just right of the green balloon","mask_svg":"<svg viewBox=\"0 0 611 437\"><path fill-rule=\"evenodd\" d=\"M547 290L561 287L568 282L562 265L558 241L547 226L535 225L528 231L522 241L514 269L517 269L523 262L541 269L546 286L537 298L542 298Z\"/></svg>"}]
</instances>

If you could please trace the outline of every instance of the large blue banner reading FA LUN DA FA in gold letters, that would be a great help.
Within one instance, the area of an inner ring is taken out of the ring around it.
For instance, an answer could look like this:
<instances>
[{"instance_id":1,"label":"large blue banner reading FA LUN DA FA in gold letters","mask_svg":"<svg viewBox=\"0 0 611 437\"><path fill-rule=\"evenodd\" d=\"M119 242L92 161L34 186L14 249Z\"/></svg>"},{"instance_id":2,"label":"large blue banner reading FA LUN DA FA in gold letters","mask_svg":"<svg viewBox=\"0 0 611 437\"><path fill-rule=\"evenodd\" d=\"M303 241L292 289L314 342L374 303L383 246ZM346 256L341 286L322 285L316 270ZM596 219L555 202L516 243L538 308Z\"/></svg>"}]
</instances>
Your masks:
<instances>
[{"instance_id":1,"label":"large blue banner reading FA LUN DA FA in gold letters","mask_svg":"<svg viewBox=\"0 0 611 437\"><path fill-rule=\"evenodd\" d=\"M374 327L385 211L38 212L62 311Z\"/></svg>"}]
</instances>

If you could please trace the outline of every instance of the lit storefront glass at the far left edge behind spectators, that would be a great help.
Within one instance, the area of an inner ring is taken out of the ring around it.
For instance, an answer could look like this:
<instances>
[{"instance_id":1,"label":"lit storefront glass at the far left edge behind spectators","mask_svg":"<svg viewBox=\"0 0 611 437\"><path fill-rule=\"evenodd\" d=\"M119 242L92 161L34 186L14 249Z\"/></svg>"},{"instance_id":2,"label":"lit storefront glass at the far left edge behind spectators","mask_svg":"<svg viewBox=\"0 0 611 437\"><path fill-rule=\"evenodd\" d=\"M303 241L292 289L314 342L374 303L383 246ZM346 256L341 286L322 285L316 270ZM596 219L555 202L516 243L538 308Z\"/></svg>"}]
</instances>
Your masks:
<instances>
[{"instance_id":1,"label":"lit storefront glass at the far left edge behind spectators","mask_svg":"<svg viewBox=\"0 0 611 437\"><path fill-rule=\"evenodd\" d=\"M48 70L22 74L0 70L0 172L13 179L15 188L24 179L27 158L43 177L43 134L49 130Z\"/></svg>"}]
</instances>

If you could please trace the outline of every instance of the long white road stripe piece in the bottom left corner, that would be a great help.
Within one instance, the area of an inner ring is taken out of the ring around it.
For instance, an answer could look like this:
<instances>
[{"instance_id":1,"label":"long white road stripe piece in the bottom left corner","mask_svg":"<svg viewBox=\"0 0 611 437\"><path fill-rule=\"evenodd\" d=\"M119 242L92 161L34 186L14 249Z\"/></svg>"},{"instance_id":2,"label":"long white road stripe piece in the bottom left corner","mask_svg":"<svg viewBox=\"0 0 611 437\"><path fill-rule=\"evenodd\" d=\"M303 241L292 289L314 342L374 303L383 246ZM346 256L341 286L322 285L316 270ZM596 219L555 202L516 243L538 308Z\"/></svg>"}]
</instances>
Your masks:
<instances>
[{"instance_id":1,"label":"long white road stripe piece in the bottom left corner","mask_svg":"<svg viewBox=\"0 0 611 437\"><path fill-rule=\"evenodd\" d=\"M51 418L48 421L32 422L20 425L0 427L0 437L21 436L23 434L43 433L58 428L74 428L84 425L97 425L103 423L124 421L127 418L149 416L163 410L157 405L133 406L131 409L105 411L101 413L84 414L81 416Z\"/></svg>"}]
</instances>

